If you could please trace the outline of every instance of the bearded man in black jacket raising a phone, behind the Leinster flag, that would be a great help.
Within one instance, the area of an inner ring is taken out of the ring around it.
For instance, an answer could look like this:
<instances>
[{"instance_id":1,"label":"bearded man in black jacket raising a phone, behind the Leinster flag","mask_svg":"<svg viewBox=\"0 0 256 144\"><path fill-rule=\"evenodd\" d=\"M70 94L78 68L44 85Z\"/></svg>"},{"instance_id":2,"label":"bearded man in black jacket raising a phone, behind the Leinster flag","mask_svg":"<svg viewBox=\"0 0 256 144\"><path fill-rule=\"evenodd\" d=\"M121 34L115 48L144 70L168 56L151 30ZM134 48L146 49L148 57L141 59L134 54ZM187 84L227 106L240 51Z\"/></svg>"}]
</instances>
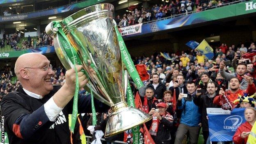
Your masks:
<instances>
[{"instance_id":1,"label":"bearded man in black jacket raising a phone, behind the Leinster flag","mask_svg":"<svg viewBox=\"0 0 256 144\"><path fill-rule=\"evenodd\" d=\"M201 88L197 89L200 90ZM208 126L208 119L207 119L207 112L206 112L206 108L208 107L214 107L214 108L218 108L220 107L219 105L215 105L213 103L213 99L216 96L216 91L217 91L218 87L217 84L215 82L209 82L207 84L206 90L207 93L206 94L201 94L201 93L196 93L196 97L194 97L194 104L199 106L202 110L202 128L203 128L203 139L204 139L204 143L206 144L207 139L209 137L209 126Z\"/></svg>"}]
</instances>

